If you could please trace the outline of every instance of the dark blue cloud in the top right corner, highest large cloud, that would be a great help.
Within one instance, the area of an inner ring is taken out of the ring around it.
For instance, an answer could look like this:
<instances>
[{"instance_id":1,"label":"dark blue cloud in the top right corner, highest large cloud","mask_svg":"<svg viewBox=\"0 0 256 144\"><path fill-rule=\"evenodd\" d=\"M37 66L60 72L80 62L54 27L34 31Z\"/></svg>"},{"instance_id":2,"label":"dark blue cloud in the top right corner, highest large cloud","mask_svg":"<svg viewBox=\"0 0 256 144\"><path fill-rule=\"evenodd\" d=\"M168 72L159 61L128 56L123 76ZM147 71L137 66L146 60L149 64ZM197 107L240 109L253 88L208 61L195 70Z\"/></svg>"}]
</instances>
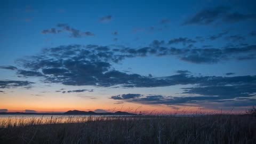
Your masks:
<instances>
[{"instance_id":1,"label":"dark blue cloud in the top right corner, highest large cloud","mask_svg":"<svg viewBox=\"0 0 256 144\"><path fill-rule=\"evenodd\" d=\"M255 20L255 18L255 14L232 12L229 7L218 6L197 12L185 20L183 25L210 25L218 21L233 23L250 19Z\"/></svg>"}]
</instances>

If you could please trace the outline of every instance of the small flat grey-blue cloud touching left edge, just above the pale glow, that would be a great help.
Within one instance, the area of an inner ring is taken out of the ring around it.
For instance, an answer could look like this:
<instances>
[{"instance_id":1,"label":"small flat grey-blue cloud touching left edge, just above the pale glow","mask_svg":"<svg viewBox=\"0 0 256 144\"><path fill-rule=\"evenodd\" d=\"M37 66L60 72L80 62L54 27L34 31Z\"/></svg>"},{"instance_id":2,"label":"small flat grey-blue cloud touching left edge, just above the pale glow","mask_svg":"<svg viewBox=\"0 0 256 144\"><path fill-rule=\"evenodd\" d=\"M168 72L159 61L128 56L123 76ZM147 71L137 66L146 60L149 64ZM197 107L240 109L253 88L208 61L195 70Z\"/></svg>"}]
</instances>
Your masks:
<instances>
[{"instance_id":1,"label":"small flat grey-blue cloud touching left edge, just above the pale glow","mask_svg":"<svg viewBox=\"0 0 256 144\"><path fill-rule=\"evenodd\" d=\"M30 86L34 84L29 81L12 81L12 80L0 80L0 89L9 89L11 87L22 87L22 86Z\"/></svg>"}]
</instances>

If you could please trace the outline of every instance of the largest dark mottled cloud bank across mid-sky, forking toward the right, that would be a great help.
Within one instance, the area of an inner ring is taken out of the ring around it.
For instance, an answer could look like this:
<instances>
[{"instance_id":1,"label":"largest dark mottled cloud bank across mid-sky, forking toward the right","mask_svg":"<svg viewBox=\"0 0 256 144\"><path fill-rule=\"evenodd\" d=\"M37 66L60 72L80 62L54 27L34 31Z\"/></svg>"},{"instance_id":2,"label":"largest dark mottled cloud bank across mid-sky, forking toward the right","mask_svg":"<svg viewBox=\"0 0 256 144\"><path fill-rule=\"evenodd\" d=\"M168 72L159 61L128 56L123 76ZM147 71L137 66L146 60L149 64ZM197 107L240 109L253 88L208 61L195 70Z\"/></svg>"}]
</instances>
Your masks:
<instances>
[{"instance_id":1,"label":"largest dark mottled cloud bank across mid-sky, forking toward the right","mask_svg":"<svg viewBox=\"0 0 256 144\"><path fill-rule=\"evenodd\" d=\"M186 70L179 70L177 75L167 77L142 76L115 70L112 65L123 59L148 55L157 57L170 55L193 63L216 63L229 59L255 59L256 57L252 55L255 52L255 45L220 49L177 49L162 46L161 41L155 41L154 45L150 44L138 49L116 45L65 45L50 47L36 56L19 59L17 63L26 70L22 70L22 73L18 70L17 74L25 77L38 76L45 83L64 85L157 87L196 84L207 78L212 78L214 81L221 81L223 78L189 76L190 73Z\"/></svg>"}]
</instances>

